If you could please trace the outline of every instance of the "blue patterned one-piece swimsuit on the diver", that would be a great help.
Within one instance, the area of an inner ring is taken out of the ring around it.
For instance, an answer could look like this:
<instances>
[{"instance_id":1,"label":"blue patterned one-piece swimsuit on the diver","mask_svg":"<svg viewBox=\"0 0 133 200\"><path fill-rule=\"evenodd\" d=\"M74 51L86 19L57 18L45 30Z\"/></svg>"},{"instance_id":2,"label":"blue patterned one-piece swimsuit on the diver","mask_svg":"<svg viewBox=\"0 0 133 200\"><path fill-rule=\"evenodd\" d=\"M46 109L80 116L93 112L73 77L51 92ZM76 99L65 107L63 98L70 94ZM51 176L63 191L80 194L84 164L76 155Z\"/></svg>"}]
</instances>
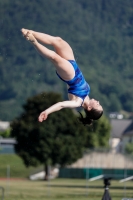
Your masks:
<instances>
[{"instance_id":1,"label":"blue patterned one-piece swimsuit on the diver","mask_svg":"<svg viewBox=\"0 0 133 200\"><path fill-rule=\"evenodd\" d=\"M84 76L80 71L76 61L74 60L68 60L68 61L72 64L75 70L74 78L70 81L65 81L60 77L60 75L57 72L56 74L62 81L64 81L69 85L68 93L74 94L75 96L80 97L84 101L85 97L90 93L90 86L85 81Z\"/></svg>"}]
</instances>

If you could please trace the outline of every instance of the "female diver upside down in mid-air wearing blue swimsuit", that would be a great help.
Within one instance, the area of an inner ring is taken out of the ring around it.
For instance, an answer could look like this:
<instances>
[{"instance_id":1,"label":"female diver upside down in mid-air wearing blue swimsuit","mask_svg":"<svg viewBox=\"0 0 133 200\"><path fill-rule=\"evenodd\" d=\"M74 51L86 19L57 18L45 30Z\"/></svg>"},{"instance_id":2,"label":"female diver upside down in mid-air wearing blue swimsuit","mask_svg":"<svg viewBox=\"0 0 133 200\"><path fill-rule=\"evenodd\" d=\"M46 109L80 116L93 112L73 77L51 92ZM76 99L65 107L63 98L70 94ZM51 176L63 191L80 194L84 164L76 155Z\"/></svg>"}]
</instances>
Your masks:
<instances>
[{"instance_id":1,"label":"female diver upside down in mid-air wearing blue swimsuit","mask_svg":"<svg viewBox=\"0 0 133 200\"><path fill-rule=\"evenodd\" d=\"M47 119L48 115L63 108L83 107L86 116L79 118L86 124L92 124L93 120L99 119L103 114L103 108L99 101L89 98L90 87L80 71L70 45L60 37L21 29L23 36L31 42L35 49L45 58L48 58L56 68L57 76L68 86L68 101L58 102L39 115L39 122ZM52 45L52 51L42 44Z\"/></svg>"}]
</instances>

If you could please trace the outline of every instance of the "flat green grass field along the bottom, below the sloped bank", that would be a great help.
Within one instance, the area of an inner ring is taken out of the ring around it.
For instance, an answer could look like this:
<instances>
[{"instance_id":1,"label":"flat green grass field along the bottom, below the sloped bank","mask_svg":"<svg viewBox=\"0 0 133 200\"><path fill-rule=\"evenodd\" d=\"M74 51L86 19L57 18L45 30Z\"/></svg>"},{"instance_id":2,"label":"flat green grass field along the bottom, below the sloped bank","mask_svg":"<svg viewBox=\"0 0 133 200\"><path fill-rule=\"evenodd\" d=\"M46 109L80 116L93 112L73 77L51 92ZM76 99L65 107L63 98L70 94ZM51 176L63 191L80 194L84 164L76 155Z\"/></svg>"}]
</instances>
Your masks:
<instances>
[{"instance_id":1,"label":"flat green grass field along the bottom, below the sloped bank","mask_svg":"<svg viewBox=\"0 0 133 200\"><path fill-rule=\"evenodd\" d=\"M103 181L88 182L83 179L55 179L45 181L0 181L5 188L5 200L101 200ZM133 182L111 181L110 195L113 200L133 198Z\"/></svg>"}]
</instances>

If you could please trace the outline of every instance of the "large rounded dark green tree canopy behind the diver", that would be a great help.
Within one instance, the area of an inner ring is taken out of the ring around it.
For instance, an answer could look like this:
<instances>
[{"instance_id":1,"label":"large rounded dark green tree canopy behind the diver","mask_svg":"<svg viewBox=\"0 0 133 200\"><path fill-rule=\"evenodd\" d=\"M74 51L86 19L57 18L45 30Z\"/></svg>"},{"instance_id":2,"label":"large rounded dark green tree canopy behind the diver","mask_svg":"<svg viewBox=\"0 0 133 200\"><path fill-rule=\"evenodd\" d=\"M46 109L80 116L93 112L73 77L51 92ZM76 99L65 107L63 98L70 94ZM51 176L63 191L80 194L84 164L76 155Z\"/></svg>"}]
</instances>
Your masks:
<instances>
[{"instance_id":1,"label":"large rounded dark green tree canopy behind the diver","mask_svg":"<svg viewBox=\"0 0 133 200\"><path fill-rule=\"evenodd\" d=\"M60 94L52 92L29 98L22 115L11 123L11 136L17 140L16 153L26 166L64 166L82 157L86 148L108 145L110 126L104 117L94 124L93 130L80 124L72 109L52 113L39 123L39 113L59 101Z\"/></svg>"}]
</instances>

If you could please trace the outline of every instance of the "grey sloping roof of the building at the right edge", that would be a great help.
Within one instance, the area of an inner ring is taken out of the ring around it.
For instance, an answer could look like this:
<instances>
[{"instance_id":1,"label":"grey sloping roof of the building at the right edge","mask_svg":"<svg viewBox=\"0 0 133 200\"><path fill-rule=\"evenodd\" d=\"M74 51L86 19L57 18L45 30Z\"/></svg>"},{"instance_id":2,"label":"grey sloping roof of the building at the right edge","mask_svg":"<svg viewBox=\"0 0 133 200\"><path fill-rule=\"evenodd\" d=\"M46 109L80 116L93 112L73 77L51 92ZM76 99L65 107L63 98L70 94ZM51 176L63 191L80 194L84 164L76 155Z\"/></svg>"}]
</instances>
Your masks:
<instances>
[{"instance_id":1,"label":"grey sloping roof of the building at the right edge","mask_svg":"<svg viewBox=\"0 0 133 200\"><path fill-rule=\"evenodd\" d=\"M128 132L133 132L133 120L132 119L112 119L111 120L111 137L121 138Z\"/></svg>"}]
</instances>

